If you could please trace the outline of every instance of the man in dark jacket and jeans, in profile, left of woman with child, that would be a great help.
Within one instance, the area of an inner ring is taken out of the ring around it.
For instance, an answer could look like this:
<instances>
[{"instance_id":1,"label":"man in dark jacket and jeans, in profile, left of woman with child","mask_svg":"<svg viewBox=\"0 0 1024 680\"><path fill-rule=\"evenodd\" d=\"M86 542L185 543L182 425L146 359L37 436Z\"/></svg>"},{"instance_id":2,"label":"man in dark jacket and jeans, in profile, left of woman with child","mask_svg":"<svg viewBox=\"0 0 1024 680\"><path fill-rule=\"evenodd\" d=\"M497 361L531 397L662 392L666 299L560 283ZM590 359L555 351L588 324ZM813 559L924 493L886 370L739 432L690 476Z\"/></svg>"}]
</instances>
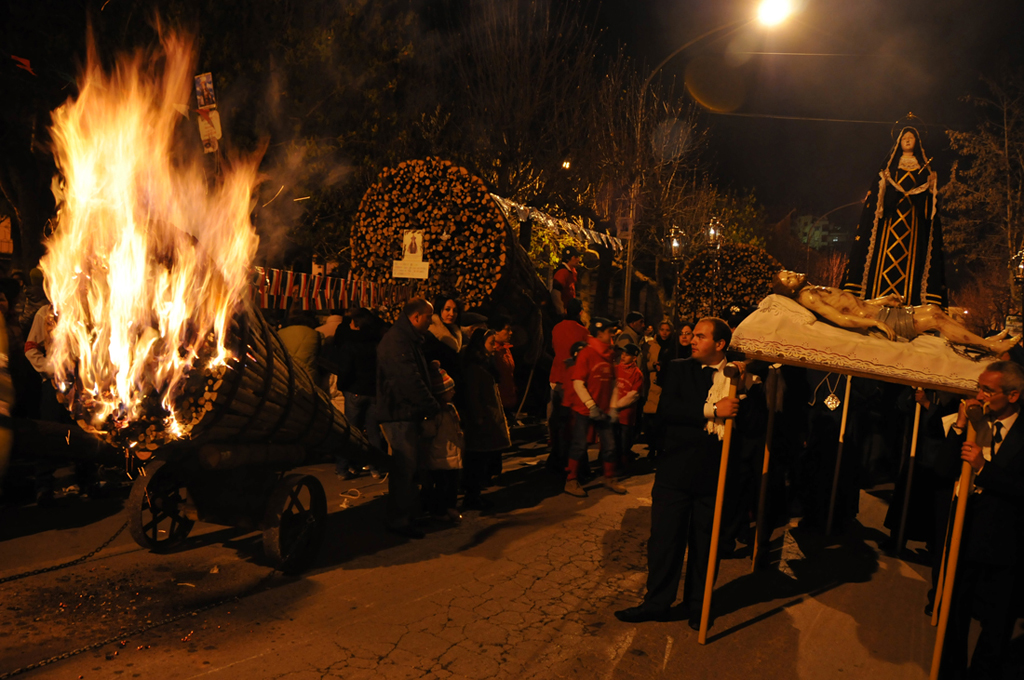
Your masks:
<instances>
[{"instance_id":1,"label":"man in dark jacket and jeans, in profile, left of woman with child","mask_svg":"<svg viewBox=\"0 0 1024 680\"><path fill-rule=\"evenodd\" d=\"M377 345L377 422L391 447L387 528L411 539L423 538L412 524L420 436L424 421L441 410L430 391L423 356L423 338L433 311L423 298L413 298Z\"/></svg>"}]
</instances>

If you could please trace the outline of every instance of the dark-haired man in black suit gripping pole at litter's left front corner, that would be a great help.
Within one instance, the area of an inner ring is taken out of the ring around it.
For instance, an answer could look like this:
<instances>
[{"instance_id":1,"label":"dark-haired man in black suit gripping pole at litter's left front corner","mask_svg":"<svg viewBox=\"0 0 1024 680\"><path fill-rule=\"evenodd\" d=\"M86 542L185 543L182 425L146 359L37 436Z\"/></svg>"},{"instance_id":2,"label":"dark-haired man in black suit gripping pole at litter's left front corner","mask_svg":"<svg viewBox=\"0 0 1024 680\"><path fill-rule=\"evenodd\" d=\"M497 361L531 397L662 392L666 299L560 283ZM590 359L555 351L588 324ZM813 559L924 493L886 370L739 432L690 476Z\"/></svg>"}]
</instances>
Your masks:
<instances>
[{"instance_id":1,"label":"dark-haired man in black suit gripping pole at litter's left front corner","mask_svg":"<svg viewBox=\"0 0 1024 680\"><path fill-rule=\"evenodd\" d=\"M664 438L651 491L647 594L639 606L616 611L620 621L670 618L688 548L683 607L690 628L700 626L722 433L726 419L739 410L739 400L728 395L722 372L731 339L724 321L701 318L693 329L690 358L663 365L656 418Z\"/></svg>"}]
</instances>

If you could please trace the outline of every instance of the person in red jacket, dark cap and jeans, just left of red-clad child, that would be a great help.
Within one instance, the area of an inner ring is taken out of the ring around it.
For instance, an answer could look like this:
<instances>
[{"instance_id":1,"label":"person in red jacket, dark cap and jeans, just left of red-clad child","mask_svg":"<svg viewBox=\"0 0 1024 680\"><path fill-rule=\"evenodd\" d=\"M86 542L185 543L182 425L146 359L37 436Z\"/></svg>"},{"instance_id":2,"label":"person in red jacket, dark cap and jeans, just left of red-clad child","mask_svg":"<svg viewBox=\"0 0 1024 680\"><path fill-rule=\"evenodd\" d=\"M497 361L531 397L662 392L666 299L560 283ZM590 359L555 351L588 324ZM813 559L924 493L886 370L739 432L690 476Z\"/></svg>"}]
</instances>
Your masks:
<instances>
[{"instance_id":1,"label":"person in red jacket, dark cap and jeans, just left of red-clad child","mask_svg":"<svg viewBox=\"0 0 1024 680\"><path fill-rule=\"evenodd\" d=\"M615 374L611 364L611 339L614 327L607 318L595 317L590 323L590 340L580 350L569 373L572 389L568 391L569 403L575 413L572 424L572 443L569 447L568 477L565 493L586 497L587 491L577 479L581 462L587 457L587 434L593 427L601 444L601 462L604 464L604 486L615 494L625 494L626 487L617 483L615 475L615 440L611 431L611 395L615 388Z\"/></svg>"}]
</instances>

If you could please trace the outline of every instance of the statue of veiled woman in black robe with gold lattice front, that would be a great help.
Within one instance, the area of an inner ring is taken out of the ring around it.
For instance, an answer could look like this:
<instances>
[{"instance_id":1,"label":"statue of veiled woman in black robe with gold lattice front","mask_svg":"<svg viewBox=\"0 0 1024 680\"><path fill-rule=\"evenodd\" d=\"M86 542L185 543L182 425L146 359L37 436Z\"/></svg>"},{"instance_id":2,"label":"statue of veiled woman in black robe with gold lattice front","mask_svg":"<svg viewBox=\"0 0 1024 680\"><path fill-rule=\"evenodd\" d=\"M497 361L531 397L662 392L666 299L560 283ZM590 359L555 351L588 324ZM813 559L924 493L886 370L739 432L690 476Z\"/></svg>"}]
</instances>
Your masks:
<instances>
[{"instance_id":1,"label":"statue of veiled woman in black robe with gold lattice front","mask_svg":"<svg viewBox=\"0 0 1024 680\"><path fill-rule=\"evenodd\" d=\"M863 299L891 293L903 304L947 305L935 171L912 127L896 144L864 201L844 290Z\"/></svg>"}]
</instances>

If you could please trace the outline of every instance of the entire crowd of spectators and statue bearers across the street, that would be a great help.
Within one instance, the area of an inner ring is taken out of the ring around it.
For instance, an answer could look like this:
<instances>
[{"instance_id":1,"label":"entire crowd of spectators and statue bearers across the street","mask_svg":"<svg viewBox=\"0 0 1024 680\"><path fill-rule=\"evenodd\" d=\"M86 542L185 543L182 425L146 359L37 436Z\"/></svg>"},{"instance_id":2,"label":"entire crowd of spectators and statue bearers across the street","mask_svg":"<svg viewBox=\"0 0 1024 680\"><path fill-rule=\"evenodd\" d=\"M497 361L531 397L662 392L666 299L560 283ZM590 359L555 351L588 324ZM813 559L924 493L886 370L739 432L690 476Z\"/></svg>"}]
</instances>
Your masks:
<instances>
[{"instance_id":1,"label":"entire crowd of spectators and statue bearers across the street","mask_svg":"<svg viewBox=\"0 0 1024 680\"><path fill-rule=\"evenodd\" d=\"M577 296L578 266L579 253L567 248L551 289L558 321L544 343L553 353L550 371L540 363L550 388L546 466L561 477L566 495L583 498L595 488L626 494L624 477L638 462L635 444L646 444L648 465L655 471L647 591L640 604L615 615L631 623L682 615L696 629L711 553L721 442L730 420L732 456L718 554L729 556L737 541L750 545L753 538L759 493L755 481L767 420L767 367L737 360L738 396L730 396L724 368L729 358L740 358L730 357L728 350L739 317L675 324L666 320L651 326L642 313L631 311L620 326L589 316ZM41 283L38 270L25 282L0 282L9 371L18 393L11 415L66 421L67 411L49 379L53 313ZM323 322L298 314L282 326L282 341L294 362L332 394L371 445L390 454L389 532L420 539L428 519L455 525L465 510L493 508L485 492L502 472L502 454L511 449L509 424L515 424L529 396L529 383L523 385L516 371L508 316L466 310L458 294L451 293L433 301L410 300L391 325L369 309L355 308ZM1014 352L1024 353L1016 348L1004 358L1020 358ZM888 547L898 550L895 534L905 514L906 537L928 546L934 568L927 613L935 598L959 462L971 463L978 473L981 493L972 498L965 566L957 575L965 585L952 605L951 642L944 662L950 668L967 666L966 636L974 615L983 628L972 663L978 673L1001 663L1017 598L1024 592L1024 435L1014 427L1024 390L1021 363L998 362L982 373L976 399L993 414L996 433L980 447L964 439L965 407L957 395L858 380L851 392L846 439L852 455L844 458L840 471L836 525L842 529L856 516L860 488L878 480L872 474L879 459L888 459L889 472L896 471L891 462L898 461L900 452L892 442L900 438L900 423L878 413L880 405L901 403L904 413L921 405L915 485L910 497L903 498L903 480L898 480L886 526L894 534ZM830 394L838 389L839 383L834 386L829 377L781 369L785 390L768 497L773 501L772 525L792 515L802 516L808 526L823 523L828 501L822 490L831 485L839 428L839 414L819 398L822 389ZM591 469L592 444L597 444L597 470ZM381 474L349 459L355 455L338 452L339 475ZM40 503L53 498L54 468L43 460L35 463ZM93 493L95 467L79 463L75 472L80 492ZM681 583L680 614L673 605ZM1012 596L1005 597L1007 593Z\"/></svg>"}]
</instances>

